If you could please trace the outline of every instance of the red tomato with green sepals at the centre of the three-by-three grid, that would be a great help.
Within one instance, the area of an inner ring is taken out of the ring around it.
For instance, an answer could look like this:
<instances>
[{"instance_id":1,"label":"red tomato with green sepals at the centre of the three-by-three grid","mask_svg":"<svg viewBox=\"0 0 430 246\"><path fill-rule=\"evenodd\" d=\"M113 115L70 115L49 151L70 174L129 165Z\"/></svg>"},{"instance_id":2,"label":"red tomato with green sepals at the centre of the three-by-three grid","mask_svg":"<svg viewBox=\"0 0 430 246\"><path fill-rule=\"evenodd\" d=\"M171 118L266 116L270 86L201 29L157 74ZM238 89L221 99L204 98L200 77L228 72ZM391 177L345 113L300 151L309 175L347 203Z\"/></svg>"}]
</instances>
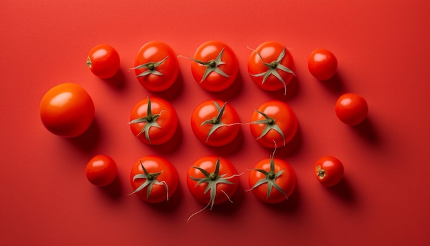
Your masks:
<instances>
[{"instance_id":1,"label":"red tomato with green sepals at the centre of the three-by-three grid","mask_svg":"<svg viewBox=\"0 0 430 246\"><path fill-rule=\"evenodd\" d=\"M191 118L191 128L203 144L224 146L232 142L239 132L239 115L227 102L208 100L202 102Z\"/></svg>"}]
</instances>

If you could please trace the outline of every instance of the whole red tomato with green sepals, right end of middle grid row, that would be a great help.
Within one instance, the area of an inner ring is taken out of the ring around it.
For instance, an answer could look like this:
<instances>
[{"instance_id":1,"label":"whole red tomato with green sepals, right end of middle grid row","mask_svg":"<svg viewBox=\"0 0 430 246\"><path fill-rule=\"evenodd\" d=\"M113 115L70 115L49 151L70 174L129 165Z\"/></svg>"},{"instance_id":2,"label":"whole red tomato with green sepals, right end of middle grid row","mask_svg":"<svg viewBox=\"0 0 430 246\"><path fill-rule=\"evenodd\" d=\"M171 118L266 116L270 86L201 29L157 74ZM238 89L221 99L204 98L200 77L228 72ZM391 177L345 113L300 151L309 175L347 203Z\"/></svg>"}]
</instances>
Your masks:
<instances>
[{"instance_id":1,"label":"whole red tomato with green sepals, right end of middle grid row","mask_svg":"<svg viewBox=\"0 0 430 246\"><path fill-rule=\"evenodd\" d=\"M297 133L297 118L285 102L264 102L251 117L251 134L267 148L285 146Z\"/></svg>"}]
</instances>

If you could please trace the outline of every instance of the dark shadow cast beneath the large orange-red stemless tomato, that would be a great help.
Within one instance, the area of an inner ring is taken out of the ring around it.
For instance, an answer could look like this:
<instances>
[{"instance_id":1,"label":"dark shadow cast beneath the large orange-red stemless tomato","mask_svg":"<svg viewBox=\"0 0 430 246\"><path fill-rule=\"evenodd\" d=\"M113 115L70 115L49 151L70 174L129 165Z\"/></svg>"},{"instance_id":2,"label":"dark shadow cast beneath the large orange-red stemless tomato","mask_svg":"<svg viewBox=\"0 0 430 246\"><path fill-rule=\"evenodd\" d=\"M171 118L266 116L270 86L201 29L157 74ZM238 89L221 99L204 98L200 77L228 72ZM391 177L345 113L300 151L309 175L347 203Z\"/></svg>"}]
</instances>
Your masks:
<instances>
[{"instance_id":1,"label":"dark shadow cast beneath the large orange-red stemless tomato","mask_svg":"<svg viewBox=\"0 0 430 246\"><path fill-rule=\"evenodd\" d=\"M82 133L82 135L65 139L84 153L91 153L100 142L100 127L97 118L94 118L87 131Z\"/></svg>"}]
</instances>

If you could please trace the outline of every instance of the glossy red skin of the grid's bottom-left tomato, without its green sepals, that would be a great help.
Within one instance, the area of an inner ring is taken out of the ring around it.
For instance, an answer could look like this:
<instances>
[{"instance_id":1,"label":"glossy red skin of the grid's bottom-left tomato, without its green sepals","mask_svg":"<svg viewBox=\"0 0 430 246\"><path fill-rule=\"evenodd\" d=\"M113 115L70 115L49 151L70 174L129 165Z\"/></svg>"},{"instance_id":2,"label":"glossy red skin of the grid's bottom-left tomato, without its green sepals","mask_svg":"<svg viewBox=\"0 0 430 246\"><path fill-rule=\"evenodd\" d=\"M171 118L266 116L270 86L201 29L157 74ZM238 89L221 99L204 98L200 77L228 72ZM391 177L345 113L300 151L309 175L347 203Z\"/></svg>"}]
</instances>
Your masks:
<instances>
[{"instance_id":1,"label":"glossy red skin of the grid's bottom-left tomato, without its green sepals","mask_svg":"<svg viewBox=\"0 0 430 246\"><path fill-rule=\"evenodd\" d=\"M141 161L142 165L149 173L161 172L161 174L158 175L156 179L159 182L166 182L166 186L168 187L168 189L166 189L166 186L163 186L161 184L154 184L152 186L152 190L150 192L149 197L148 186L135 193L137 194L137 197L148 203L160 203L172 197L173 194L177 191L179 183L179 175L177 169L167 159L153 155L140 158L131 168L130 183L133 190L136 190L137 188L139 188L139 186L142 186L142 184L146 181L146 179L135 179L133 181L133 177L135 177L135 175L144 174L144 170L141 166Z\"/></svg>"}]
</instances>

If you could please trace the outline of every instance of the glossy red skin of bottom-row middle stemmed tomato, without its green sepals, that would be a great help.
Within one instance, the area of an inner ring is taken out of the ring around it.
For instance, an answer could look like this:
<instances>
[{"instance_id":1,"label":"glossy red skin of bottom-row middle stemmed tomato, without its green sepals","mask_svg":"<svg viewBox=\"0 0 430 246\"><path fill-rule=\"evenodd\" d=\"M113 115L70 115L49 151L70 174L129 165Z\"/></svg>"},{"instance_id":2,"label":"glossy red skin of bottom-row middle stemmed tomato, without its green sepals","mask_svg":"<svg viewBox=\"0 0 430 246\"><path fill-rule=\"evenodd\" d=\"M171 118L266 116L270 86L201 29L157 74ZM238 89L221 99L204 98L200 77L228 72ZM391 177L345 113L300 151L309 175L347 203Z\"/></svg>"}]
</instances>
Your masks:
<instances>
[{"instance_id":1,"label":"glossy red skin of bottom-row middle stemmed tomato, without its green sepals","mask_svg":"<svg viewBox=\"0 0 430 246\"><path fill-rule=\"evenodd\" d=\"M214 199L214 204L225 203L236 193L239 184L239 177L235 176L238 175L236 168L227 159L222 157L220 158L217 156L202 157L201 159L198 159L193 165L199 168L203 168L209 173L213 173L215 171L216 161L218 161L218 159L220 159L219 175L226 175L225 177L227 178L231 176L234 177L228 179L229 181L231 181L232 184L218 183L216 185L216 196ZM191 177L205 178L205 175L203 175L200 170L191 167L188 170L187 186L188 190L190 190L190 193L197 201L200 201L201 203L207 205L208 203L210 203L210 192L208 191L206 194L204 194L205 189L207 187L207 183L200 183L199 185L197 185L197 182L191 179ZM228 197L223 192L225 192Z\"/></svg>"}]
</instances>

